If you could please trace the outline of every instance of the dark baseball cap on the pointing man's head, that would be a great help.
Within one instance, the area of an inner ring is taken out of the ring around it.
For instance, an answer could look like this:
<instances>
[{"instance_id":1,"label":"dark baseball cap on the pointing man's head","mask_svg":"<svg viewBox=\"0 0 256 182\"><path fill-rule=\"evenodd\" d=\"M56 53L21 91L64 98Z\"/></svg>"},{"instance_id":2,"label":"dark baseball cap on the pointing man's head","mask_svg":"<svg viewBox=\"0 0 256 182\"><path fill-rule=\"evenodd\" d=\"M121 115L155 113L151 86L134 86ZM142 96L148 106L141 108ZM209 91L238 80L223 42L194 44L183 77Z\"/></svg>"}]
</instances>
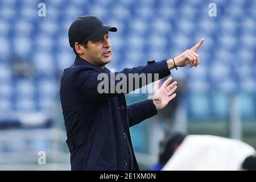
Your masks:
<instances>
[{"instance_id":1,"label":"dark baseball cap on the pointing man's head","mask_svg":"<svg viewBox=\"0 0 256 182\"><path fill-rule=\"evenodd\" d=\"M73 47L76 42L85 38L93 41L100 40L108 31L116 32L117 28L106 26L97 16L80 16L69 27L69 45Z\"/></svg>"}]
</instances>

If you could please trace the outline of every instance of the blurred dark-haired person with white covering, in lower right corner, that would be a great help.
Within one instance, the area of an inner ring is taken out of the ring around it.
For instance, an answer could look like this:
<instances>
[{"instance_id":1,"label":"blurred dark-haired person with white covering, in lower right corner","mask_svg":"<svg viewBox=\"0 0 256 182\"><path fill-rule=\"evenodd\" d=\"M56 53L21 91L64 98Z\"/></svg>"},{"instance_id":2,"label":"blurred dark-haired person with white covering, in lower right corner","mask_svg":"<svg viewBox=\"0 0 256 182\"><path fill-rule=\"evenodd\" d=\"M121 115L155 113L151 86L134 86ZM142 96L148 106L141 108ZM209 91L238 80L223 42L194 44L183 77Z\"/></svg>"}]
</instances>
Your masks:
<instances>
[{"instance_id":1,"label":"blurred dark-haired person with white covering, in lower right corner","mask_svg":"<svg viewBox=\"0 0 256 182\"><path fill-rule=\"evenodd\" d=\"M152 170L255 170L255 149L236 139L167 129Z\"/></svg>"}]
</instances>

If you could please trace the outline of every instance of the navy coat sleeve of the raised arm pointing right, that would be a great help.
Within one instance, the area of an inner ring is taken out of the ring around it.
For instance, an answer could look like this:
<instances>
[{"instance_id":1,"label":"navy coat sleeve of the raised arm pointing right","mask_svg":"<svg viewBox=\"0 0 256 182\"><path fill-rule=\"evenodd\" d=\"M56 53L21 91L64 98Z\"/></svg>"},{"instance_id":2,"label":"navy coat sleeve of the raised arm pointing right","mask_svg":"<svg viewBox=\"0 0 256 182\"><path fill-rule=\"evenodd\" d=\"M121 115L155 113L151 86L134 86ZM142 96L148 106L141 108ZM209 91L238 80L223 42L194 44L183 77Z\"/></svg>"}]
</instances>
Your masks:
<instances>
[{"instance_id":1,"label":"navy coat sleeve of the raised arm pointing right","mask_svg":"<svg viewBox=\"0 0 256 182\"><path fill-rule=\"evenodd\" d=\"M152 74L151 77L147 76L149 73ZM158 77L155 76L156 73L158 73ZM135 75L137 75L137 78L138 75L144 75L146 81L142 81L141 78L138 80L135 78ZM97 102L120 93L133 92L168 75L170 75L170 70L166 60L158 62L148 61L148 64L144 66L125 68L121 72L114 73L101 73L94 69L85 68L75 73L73 88L76 89L81 99L88 102ZM123 85L126 85L125 88L120 86L119 82L121 81ZM115 89L121 87L122 89Z\"/></svg>"}]
</instances>

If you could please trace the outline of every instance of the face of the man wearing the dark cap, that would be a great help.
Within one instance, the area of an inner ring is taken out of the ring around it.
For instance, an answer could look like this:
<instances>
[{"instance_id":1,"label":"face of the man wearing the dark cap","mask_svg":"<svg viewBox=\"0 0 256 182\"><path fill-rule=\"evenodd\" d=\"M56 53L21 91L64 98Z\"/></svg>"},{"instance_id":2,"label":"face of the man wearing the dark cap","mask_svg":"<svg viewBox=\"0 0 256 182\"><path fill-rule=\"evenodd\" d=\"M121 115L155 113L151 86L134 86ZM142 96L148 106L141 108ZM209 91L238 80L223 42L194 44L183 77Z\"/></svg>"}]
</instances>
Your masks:
<instances>
[{"instance_id":1,"label":"face of the man wearing the dark cap","mask_svg":"<svg viewBox=\"0 0 256 182\"><path fill-rule=\"evenodd\" d=\"M106 33L97 42L89 40L87 48L84 49L84 57L86 60L100 67L104 67L105 64L110 63L112 60L112 51L109 33Z\"/></svg>"}]
</instances>

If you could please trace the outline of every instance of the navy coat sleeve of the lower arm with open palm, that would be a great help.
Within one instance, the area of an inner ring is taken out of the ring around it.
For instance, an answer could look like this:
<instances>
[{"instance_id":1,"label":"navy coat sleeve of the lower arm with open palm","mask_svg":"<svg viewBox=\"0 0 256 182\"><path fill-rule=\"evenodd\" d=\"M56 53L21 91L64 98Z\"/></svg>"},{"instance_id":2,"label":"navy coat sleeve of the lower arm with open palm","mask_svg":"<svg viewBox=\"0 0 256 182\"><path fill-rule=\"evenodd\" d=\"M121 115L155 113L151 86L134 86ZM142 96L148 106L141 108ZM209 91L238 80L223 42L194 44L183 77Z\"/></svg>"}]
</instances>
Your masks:
<instances>
[{"instance_id":1,"label":"navy coat sleeve of the lower arm with open palm","mask_svg":"<svg viewBox=\"0 0 256 182\"><path fill-rule=\"evenodd\" d=\"M152 100L143 100L127 106L129 127L137 125L144 119L150 118L156 114L158 114L158 110Z\"/></svg>"}]
</instances>

